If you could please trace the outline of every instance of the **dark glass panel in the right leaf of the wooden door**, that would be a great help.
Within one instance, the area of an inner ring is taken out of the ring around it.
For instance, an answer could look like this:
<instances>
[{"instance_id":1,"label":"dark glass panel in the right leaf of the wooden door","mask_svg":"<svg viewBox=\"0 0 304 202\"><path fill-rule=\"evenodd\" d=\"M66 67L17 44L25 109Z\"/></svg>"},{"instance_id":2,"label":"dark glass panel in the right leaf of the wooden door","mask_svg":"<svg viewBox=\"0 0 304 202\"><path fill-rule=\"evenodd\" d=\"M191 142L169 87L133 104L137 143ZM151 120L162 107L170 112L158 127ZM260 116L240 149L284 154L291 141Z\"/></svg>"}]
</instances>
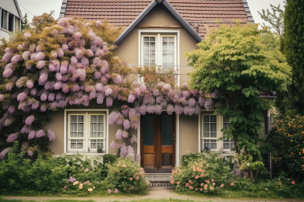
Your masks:
<instances>
[{"instance_id":1,"label":"dark glass panel in the right leaf of the wooden door","mask_svg":"<svg viewBox=\"0 0 304 202\"><path fill-rule=\"evenodd\" d=\"M172 145L172 115L162 115L162 145Z\"/></svg>"}]
</instances>

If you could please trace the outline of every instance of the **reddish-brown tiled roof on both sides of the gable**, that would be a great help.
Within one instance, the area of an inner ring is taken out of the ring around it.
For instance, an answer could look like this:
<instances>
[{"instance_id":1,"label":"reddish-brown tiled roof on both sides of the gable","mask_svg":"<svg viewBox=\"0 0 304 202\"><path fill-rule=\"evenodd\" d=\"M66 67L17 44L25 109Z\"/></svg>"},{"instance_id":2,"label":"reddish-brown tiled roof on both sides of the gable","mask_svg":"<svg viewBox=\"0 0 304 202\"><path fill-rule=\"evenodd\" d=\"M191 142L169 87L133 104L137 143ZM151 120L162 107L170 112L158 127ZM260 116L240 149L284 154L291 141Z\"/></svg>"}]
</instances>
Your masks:
<instances>
[{"instance_id":1,"label":"reddish-brown tiled roof on both sides of the gable","mask_svg":"<svg viewBox=\"0 0 304 202\"><path fill-rule=\"evenodd\" d=\"M246 0L167 0L203 38L218 23L253 23ZM114 26L129 26L152 0L63 0L60 17L107 20Z\"/></svg>"}]
</instances>

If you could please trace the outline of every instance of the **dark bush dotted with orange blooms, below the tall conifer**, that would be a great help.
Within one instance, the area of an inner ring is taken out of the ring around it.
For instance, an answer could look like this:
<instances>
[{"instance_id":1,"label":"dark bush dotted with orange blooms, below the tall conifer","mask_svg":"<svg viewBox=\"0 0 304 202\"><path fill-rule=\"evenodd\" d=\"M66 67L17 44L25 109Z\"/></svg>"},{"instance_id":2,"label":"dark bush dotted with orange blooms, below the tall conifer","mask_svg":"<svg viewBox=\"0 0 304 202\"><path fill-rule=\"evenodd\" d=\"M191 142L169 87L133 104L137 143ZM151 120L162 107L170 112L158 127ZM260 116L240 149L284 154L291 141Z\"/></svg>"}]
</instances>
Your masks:
<instances>
[{"instance_id":1,"label":"dark bush dotted with orange blooms, below the tall conifer","mask_svg":"<svg viewBox=\"0 0 304 202\"><path fill-rule=\"evenodd\" d=\"M273 175L304 180L304 116L287 116L273 125L270 143Z\"/></svg>"}]
</instances>

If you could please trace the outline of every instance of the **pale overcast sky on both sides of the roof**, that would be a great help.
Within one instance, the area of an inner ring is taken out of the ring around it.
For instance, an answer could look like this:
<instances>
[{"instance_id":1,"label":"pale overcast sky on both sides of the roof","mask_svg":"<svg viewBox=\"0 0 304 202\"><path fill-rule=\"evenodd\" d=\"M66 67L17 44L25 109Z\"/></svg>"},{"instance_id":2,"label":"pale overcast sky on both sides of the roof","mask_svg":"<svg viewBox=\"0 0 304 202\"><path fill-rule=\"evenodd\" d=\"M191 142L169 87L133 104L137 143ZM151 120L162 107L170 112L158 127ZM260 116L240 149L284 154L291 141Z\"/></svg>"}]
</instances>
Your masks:
<instances>
[{"instance_id":1,"label":"pale overcast sky on both sides of the roof","mask_svg":"<svg viewBox=\"0 0 304 202\"><path fill-rule=\"evenodd\" d=\"M54 18L59 17L62 0L17 0L19 3L22 15L28 15L29 22L32 21L34 16L40 16L43 13L50 13L51 10L55 11ZM270 9L270 4L277 6L281 5L283 8L284 0L247 0L251 14L255 23L263 24L263 20L257 13L262 12L262 9ZM270 9L271 11L271 9Z\"/></svg>"}]
</instances>

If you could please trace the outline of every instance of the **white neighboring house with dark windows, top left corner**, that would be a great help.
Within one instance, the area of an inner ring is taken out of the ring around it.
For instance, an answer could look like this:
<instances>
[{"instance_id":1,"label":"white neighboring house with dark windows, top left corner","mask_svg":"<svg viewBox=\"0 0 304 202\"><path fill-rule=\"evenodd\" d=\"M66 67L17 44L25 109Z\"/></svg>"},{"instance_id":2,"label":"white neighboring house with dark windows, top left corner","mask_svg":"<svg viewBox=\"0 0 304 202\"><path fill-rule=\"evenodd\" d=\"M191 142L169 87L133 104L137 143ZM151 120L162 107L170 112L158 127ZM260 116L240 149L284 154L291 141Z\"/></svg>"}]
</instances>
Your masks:
<instances>
[{"instance_id":1,"label":"white neighboring house with dark windows, top left corner","mask_svg":"<svg viewBox=\"0 0 304 202\"><path fill-rule=\"evenodd\" d=\"M21 31L22 14L17 0L0 1L0 39Z\"/></svg>"}]
</instances>

